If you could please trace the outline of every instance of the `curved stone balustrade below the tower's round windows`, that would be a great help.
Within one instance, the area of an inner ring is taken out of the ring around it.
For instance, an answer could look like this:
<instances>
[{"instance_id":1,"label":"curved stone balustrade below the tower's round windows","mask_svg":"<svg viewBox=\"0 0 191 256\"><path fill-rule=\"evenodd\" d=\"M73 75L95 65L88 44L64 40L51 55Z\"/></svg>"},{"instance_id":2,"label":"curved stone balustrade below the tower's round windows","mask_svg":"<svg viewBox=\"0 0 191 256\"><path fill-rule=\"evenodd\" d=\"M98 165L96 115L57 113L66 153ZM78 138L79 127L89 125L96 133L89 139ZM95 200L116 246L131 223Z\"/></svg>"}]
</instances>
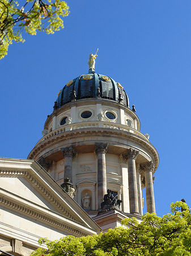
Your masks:
<instances>
[{"instance_id":1,"label":"curved stone balustrade below the tower's round windows","mask_svg":"<svg viewBox=\"0 0 191 256\"><path fill-rule=\"evenodd\" d=\"M140 133L139 131L135 130L132 127L121 125L120 123L112 123L112 122L82 122L82 123L71 123L70 125L62 126L57 128L56 130L50 131L50 133L44 135L43 138L40 139L39 142L36 143L39 144L46 139L49 139L50 137L53 137L57 134L65 133L66 131L73 131L73 130L79 130L79 129L89 129L89 128L104 128L104 129L112 129L112 130L121 130L121 131L127 131L128 133L133 133L135 135L138 135L139 137L142 137L143 139L148 139Z\"/></svg>"}]
</instances>

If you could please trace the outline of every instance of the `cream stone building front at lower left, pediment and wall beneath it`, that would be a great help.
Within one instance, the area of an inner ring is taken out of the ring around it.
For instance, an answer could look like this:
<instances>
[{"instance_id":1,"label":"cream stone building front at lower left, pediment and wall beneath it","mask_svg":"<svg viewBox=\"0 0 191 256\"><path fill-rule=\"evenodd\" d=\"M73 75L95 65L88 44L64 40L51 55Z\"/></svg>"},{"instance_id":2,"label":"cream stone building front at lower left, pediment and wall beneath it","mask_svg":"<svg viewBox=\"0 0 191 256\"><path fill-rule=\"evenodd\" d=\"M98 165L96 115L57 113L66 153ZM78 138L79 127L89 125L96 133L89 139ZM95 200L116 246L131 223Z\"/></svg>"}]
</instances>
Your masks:
<instances>
[{"instance_id":1,"label":"cream stone building front at lower left, pediment and wall beneath it","mask_svg":"<svg viewBox=\"0 0 191 256\"><path fill-rule=\"evenodd\" d=\"M40 237L87 236L100 228L34 160L0 158L0 249L29 256Z\"/></svg>"}]
</instances>

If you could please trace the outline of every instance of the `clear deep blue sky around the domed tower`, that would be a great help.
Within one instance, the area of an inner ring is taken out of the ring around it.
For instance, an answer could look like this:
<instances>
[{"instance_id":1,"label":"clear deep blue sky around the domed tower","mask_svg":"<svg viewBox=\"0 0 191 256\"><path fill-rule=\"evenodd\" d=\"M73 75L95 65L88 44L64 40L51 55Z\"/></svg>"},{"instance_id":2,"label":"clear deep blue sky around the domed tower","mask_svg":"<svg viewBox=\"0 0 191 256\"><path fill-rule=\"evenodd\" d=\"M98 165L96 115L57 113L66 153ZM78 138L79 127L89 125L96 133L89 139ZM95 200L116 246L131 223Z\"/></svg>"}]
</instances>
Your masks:
<instances>
[{"instance_id":1,"label":"clear deep blue sky around the domed tower","mask_svg":"<svg viewBox=\"0 0 191 256\"><path fill-rule=\"evenodd\" d=\"M159 152L156 212L190 193L190 0L67 1L65 29L23 34L0 61L1 147L7 158L27 158L41 138L57 93L88 72L99 48L97 73L124 86L137 109L141 132Z\"/></svg>"}]
</instances>

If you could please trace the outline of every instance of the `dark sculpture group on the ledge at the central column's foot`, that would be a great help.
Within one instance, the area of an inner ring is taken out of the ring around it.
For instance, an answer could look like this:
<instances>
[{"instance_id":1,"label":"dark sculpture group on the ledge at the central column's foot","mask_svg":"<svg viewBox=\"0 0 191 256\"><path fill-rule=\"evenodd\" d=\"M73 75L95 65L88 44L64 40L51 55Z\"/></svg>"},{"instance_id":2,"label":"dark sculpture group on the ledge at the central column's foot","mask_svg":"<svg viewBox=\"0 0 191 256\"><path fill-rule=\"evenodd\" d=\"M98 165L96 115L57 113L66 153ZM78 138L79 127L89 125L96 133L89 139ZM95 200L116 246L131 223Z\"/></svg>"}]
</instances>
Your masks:
<instances>
[{"instance_id":1,"label":"dark sculpture group on the ledge at the central column's foot","mask_svg":"<svg viewBox=\"0 0 191 256\"><path fill-rule=\"evenodd\" d=\"M107 194L104 195L104 201L101 203L101 210L119 209L122 201L117 199L117 196L113 196L111 189L107 190Z\"/></svg>"}]
</instances>

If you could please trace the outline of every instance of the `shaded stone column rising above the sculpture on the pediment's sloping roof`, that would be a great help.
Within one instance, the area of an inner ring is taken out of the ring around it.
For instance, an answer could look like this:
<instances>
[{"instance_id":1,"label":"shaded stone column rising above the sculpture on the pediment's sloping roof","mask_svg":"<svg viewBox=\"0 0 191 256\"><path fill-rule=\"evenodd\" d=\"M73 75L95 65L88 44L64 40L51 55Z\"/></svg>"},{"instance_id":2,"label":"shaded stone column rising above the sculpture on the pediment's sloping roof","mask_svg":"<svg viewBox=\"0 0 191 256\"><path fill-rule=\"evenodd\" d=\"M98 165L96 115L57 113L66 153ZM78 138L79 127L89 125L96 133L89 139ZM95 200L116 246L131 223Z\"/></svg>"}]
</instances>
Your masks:
<instances>
[{"instance_id":1,"label":"shaded stone column rising above the sculpture on the pediment's sloping roof","mask_svg":"<svg viewBox=\"0 0 191 256\"><path fill-rule=\"evenodd\" d=\"M73 183L73 172L72 172L72 165L73 165L73 158L77 155L73 146L61 148L63 157L65 158L65 170L63 177L64 179L69 178L70 183Z\"/></svg>"}]
</instances>

